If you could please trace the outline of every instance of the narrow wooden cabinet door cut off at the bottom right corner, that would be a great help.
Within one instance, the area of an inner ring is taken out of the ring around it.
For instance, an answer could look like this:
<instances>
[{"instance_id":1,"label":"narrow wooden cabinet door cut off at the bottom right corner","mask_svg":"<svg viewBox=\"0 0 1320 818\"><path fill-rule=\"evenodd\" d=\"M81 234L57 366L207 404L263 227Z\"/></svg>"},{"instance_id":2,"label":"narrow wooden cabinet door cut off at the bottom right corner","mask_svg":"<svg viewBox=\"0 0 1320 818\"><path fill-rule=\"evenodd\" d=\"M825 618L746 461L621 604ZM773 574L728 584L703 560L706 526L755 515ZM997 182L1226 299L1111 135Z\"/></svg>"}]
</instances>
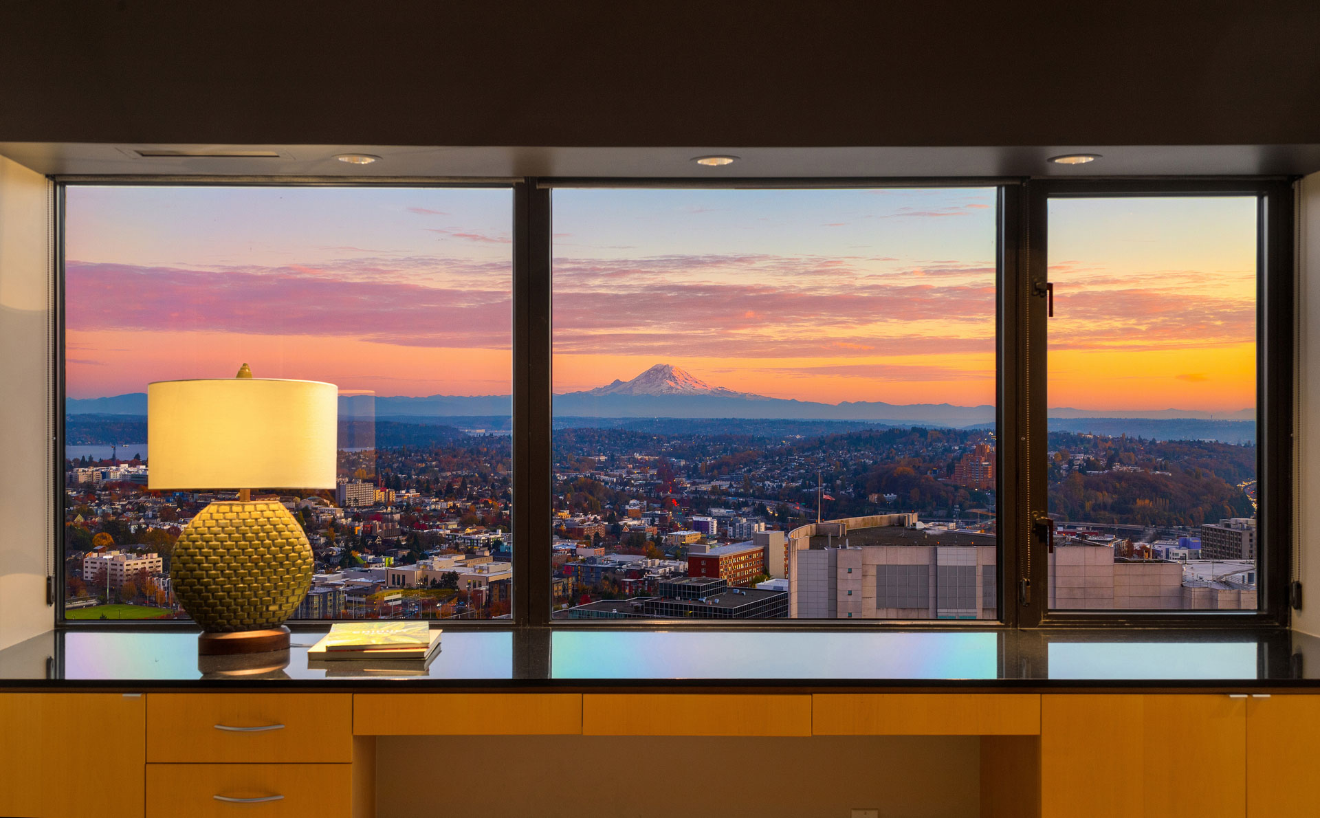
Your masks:
<instances>
[{"instance_id":1,"label":"narrow wooden cabinet door cut off at the bottom right corner","mask_svg":"<svg viewBox=\"0 0 1320 818\"><path fill-rule=\"evenodd\" d=\"M1320 695L1253 697L1246 711L1250 818L1309 815L1320 765Z\"/></svg>"}]
</instances>

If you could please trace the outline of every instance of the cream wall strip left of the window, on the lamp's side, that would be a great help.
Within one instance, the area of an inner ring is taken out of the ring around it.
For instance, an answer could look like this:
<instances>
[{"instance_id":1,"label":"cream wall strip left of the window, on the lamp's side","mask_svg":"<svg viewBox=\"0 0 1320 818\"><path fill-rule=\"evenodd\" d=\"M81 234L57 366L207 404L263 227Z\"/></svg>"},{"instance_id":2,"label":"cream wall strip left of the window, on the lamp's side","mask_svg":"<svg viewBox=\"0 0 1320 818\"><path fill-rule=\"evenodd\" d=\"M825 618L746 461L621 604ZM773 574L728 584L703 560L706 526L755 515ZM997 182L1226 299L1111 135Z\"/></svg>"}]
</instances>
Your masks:
<instances>
[{"instance_id":1,"label":"cream wall strip left of the window, on the lamp's side","mask_svg":"<svg viewBox=\"0 0 1320 818\"><path fill-rule=\"evenodd\" d=\"M51 507L46 179L0 157L0 648L48 631Z\"/></svg>"}]
</instances>

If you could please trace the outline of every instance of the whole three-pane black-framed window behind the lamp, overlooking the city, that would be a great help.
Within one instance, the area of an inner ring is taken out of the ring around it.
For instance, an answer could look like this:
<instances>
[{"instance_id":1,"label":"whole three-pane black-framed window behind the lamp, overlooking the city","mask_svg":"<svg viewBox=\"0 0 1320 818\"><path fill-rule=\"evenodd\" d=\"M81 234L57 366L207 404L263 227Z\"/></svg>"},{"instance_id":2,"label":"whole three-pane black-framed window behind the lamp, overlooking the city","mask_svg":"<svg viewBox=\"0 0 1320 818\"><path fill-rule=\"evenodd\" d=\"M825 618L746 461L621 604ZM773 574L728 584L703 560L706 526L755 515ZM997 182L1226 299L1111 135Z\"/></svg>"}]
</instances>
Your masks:
<instances>
[{"instance_id":1,"label":"whole three-pane black-framed window behind the lamp, overlooking the city","mask_svg":"<svg viewBox=\"0 0 1320 818\"><path fill-rule=\"evenodd\" d=\"M59 190L65 620L182 615L240 363L339 387L298 619L1287 620L1290 182Z\"/></svg>"}]
</instances>

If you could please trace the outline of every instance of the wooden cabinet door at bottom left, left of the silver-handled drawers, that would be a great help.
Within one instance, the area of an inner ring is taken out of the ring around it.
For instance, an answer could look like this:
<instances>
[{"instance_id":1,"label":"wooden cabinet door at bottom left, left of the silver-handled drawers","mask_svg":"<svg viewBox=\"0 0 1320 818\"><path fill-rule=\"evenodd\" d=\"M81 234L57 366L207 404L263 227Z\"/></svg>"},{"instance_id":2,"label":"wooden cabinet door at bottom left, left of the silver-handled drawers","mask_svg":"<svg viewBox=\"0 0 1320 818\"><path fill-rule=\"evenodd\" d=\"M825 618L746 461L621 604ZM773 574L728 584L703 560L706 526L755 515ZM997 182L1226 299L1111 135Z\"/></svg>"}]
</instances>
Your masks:
<instances>
[{"instance_id":1,"label":"wooden cabinet door at bottom left, left of the silver-handled drawers","mask_svg":"<svg viewBox=\"0 0 1320 818\"><path fill-rule=\"evenodd\" d=\"M147 702L0 694L0 815L141 818Z\"/></svg>"}]
</instances>

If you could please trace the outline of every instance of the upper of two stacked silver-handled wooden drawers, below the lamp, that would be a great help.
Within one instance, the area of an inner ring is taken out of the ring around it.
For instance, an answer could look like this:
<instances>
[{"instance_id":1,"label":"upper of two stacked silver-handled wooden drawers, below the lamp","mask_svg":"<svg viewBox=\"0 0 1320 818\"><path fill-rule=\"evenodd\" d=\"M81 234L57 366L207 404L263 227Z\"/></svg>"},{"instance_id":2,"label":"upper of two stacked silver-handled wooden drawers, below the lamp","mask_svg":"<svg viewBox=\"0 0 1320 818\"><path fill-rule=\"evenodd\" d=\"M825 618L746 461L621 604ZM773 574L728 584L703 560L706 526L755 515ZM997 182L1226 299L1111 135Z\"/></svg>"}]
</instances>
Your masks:
<instances>
[{"instance_id":1,"label":"upper of two stacked silver-handled wooden drawers, below the lamp","mask_svg":"<svg viewBox=\"0 0 1320 818\"><path fill-rule=\"evenodd\" d=\"M352 761L352 694L152 693L147 760Z\"/></svg>"}]
</instances>

